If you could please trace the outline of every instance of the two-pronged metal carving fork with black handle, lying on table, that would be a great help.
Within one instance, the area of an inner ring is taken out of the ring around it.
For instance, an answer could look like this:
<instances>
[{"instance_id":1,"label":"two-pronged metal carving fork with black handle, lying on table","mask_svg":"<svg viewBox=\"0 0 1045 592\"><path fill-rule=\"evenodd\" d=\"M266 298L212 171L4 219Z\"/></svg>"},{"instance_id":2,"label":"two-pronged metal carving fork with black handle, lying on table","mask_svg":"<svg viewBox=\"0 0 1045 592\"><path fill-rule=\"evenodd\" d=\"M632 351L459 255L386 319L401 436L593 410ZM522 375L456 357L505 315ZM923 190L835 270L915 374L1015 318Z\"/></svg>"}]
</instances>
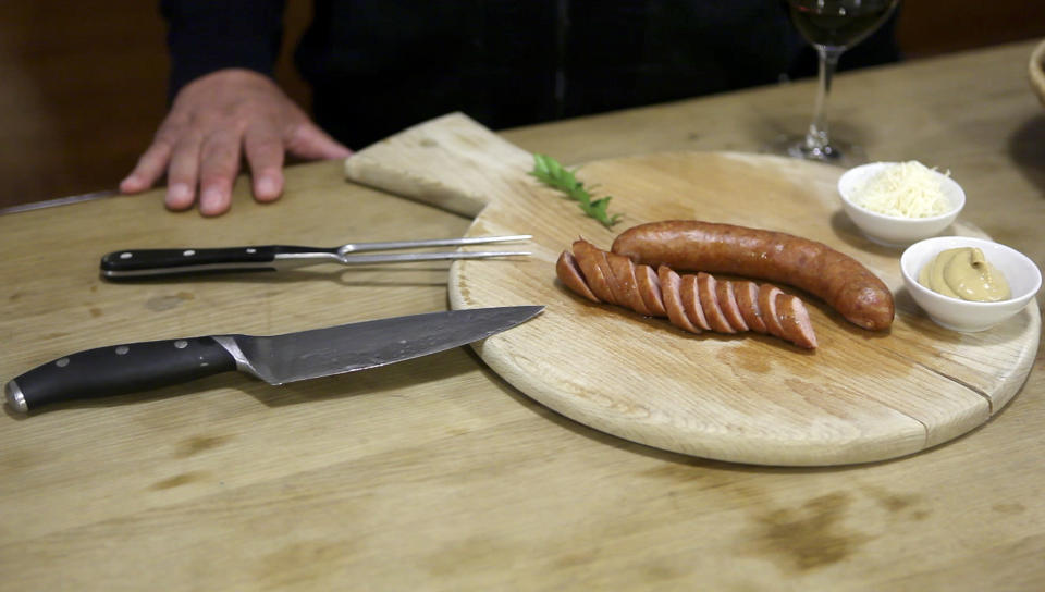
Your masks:
<instances>
[{"instance_id":1,"label":"two-pronged metal carving fork with black handle, lying on table","mask_svg":"<svg viewBox=\"0 0 1045 592\"><path fill-rule=\"evenodd\" d=\"M348 243L340 247L304 247L267 245L220 248L126 249L101 258L101 274L110 280L151 278L186 273L220 271L279 271L320 263L369 266L415 261L444 261L453 259L487 259L530 255L529 251L446 251L371 254L428 247L448 247L507 243L532 238L529 234L511 236L475 236L467 238L434 238L426 240L392 240L382 243ZM371 254L371 255L360 255Z\"/></svg>"}]
</instances>

